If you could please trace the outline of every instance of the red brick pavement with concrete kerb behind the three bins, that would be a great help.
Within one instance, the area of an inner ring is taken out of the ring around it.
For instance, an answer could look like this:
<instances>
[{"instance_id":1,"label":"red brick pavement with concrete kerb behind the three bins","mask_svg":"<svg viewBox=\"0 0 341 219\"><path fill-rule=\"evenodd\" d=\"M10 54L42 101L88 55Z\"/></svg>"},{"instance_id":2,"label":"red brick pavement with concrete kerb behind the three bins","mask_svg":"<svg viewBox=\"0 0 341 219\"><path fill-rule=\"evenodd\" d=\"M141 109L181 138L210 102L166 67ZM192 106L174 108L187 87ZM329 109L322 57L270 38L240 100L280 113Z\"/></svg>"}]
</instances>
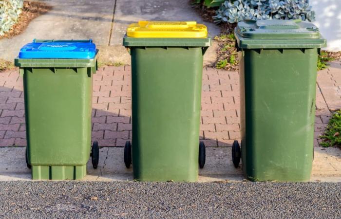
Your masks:
<instances>
[{"instance_id":1,"label":"red brick pavement with concrete kerb behind the three bins","mask_svg":"<svg viewBox=\"0 0 341 219\"><path fill-rule=\"evenodd\" d=\"M330 111L341 108L341 62L334 61L318 73L315 159L312 181L341 182L341 150L322 148L319 135ZM26 146L22 78L17 71L0 73L0 180L30 178L24 154ZM94 75L93 140L98 141L100 164L89 164L85 180L131 180L132 169L123 163L123 146L131 140L131 71L129 66L104 67ZM205 68L200 139L207 148L207 162L200 182L242 180L241 169L230 159L231 144L240 140L239 75Z\"/></svg>"}]
</instances>

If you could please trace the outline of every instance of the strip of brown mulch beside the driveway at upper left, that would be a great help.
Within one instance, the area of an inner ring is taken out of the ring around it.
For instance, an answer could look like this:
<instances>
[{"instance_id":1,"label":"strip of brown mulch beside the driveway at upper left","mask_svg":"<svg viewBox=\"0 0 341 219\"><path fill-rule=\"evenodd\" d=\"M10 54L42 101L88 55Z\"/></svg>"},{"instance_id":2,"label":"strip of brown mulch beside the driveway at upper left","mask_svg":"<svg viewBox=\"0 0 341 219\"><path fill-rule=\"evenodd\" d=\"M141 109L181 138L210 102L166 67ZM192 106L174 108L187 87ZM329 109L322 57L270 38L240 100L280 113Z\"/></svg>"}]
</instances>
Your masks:
<instances>
[{"instance_id":1,"label":"strip of brown mulch beside the driveway at upper left","mask_svg":"<svg viewBox=\"0 0 341 219\"><path fill-rule=\"evenodd\" d=\"M40 1L24 1L24 6L22 8L21 14L19 15L18 22L14 24L13 27L7 33L5 33L5 35L0 36L0 39L12 38L21 34L31 20L42 14L45 14L51 9L52 6Z\"/></svg>"}]
</instances>

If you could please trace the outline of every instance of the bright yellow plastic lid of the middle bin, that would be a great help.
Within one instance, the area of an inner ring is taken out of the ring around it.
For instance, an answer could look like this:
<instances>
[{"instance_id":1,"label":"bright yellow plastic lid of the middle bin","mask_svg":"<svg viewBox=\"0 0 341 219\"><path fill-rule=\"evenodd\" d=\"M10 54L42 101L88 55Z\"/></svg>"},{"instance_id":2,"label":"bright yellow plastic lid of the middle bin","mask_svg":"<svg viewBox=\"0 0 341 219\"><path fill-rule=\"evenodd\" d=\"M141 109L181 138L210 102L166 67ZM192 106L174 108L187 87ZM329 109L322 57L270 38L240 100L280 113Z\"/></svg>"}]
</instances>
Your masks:
<instances>
[{"instance_id":1,"label":"bright yellow plastic lid of the middle bin","mask_svg":"<svg viewBox=\"0 0 341 219\"><path fill-rule=\"evenodd\" d=\"M127 29L128 37L141 38L203 38L207 27L196 21L138 21Z\"/></svg>"}]
</instances>

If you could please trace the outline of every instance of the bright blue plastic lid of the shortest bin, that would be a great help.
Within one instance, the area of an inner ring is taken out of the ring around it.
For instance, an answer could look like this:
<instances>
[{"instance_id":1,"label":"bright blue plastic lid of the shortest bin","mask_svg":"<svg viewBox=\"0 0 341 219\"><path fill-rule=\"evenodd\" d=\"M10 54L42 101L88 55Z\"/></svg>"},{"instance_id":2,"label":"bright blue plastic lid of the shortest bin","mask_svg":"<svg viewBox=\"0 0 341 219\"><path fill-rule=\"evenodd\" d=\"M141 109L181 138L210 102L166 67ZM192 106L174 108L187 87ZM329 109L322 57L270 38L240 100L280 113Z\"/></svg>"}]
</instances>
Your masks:
<instances>
[{"instance_id":1,"label":"bright blue plastic lid of the shortest bin","mask_svg":"<svg viewBox=\"0 0 341 219\"><path fill-rule=\"evenodd\" d=\"M36 40L24 45L19 58L84 58L96 55L96 45L89 40Z\"/></svg>"}]
</instances>

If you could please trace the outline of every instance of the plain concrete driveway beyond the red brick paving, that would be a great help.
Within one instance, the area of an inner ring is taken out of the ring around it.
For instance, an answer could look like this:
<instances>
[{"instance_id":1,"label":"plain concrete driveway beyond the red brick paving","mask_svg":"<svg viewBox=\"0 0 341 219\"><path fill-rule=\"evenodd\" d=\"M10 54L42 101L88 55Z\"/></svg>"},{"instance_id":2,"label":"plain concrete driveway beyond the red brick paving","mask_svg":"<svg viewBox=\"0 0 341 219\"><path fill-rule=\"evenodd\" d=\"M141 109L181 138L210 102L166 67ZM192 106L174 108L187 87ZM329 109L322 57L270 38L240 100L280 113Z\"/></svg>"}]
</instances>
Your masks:
<instances>
[{"instance_id":1,"label":"plain concrete driveway beyond the red brick paving","mask_svg":"<svg viewBox=\"0 0 341 219\"><path fill-rule=\"evenodd\" d=\"M89 39L100 49L101 63L130 64L122 46L125 31L138 20L196 20L208 26L209 35L220 33L218 26L204 22L189 0L43 0L53 6L31 21L27 29L11 39L0 40L0 58L13 61L19 49L33 39ZM215 46L205 55L205 63L215 61Z\"/></svg>"}]
</instances>

